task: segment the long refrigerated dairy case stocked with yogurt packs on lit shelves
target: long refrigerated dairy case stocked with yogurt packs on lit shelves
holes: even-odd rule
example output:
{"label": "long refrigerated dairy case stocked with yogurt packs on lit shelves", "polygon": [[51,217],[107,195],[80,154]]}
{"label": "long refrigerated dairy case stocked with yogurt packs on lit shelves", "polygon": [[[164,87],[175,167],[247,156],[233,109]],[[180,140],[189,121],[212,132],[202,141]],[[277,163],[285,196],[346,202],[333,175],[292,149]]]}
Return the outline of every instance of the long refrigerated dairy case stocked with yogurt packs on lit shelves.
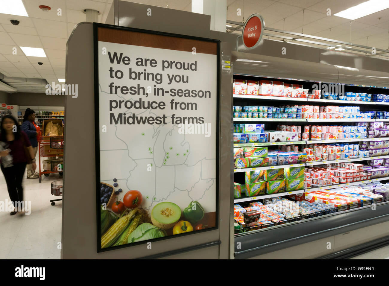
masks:
{"label": "long refrigerated dairy case stocked with yogurt packs on lit shelves", "polygon": [[232,67],[235,259],[388,240],[389,73],[240,52]]}

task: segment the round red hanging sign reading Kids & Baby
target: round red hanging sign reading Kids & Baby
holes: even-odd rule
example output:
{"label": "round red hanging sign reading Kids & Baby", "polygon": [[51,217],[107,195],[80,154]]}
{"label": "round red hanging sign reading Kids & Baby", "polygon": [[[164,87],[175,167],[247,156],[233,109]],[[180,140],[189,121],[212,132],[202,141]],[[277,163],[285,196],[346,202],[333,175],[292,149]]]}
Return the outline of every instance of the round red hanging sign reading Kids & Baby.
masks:
{"label": "round red hanging sign reading Kids & Baby", "polygon": [[248,49],[254,49],[262,39],[265,23],[259,14],[252,14],[243,26],[243,44]]}

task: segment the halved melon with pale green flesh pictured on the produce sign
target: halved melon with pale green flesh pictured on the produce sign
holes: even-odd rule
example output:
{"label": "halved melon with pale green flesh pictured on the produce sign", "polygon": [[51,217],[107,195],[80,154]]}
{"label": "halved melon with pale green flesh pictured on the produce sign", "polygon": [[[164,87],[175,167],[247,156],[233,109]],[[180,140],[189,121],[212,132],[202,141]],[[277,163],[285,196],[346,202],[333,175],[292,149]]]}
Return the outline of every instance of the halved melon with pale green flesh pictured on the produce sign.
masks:
{"label": "halved melon with pale green flesh pictured on the produce sign", "polygon": [[151,222],[158,228],[172,228],[181,217],[181,209],[171,202],[156,204],[151,211]]}

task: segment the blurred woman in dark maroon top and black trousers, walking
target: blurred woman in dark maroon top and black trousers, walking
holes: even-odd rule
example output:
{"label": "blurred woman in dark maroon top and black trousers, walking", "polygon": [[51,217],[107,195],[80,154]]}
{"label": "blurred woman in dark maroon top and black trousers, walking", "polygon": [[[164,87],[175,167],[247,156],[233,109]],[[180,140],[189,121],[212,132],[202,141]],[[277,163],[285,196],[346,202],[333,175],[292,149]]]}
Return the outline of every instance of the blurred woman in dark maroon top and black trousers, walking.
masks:
{"label": "blurred woman in dark maroon top and black trousers, walking", "polygon": [[[22,180],[27,163],[32,159],[34,170],[37,168],[37,165],[35,158],[33,158],[34,152],[30,140],[28,140],[26,133],[20,130],[18,122],[12,115],[3,117],[0,131],[0,141],[8,145],[8,149],[0,152],[0,165],[7,183],[9,197],[15,206],[15,202],[23,201]],[[2,157],[8,154],[12,156],[12,166],[4,167]],[[17,210],[11,212],[11,216],[16,214],[16,212]]]}

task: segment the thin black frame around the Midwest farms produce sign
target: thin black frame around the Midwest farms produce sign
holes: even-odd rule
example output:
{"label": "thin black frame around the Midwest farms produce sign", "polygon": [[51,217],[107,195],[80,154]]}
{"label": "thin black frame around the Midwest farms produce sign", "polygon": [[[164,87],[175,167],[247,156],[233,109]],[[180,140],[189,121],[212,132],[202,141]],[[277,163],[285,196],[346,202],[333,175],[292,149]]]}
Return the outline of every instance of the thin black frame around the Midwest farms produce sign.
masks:
{"label": "thin black frame around the Midwest farms produce sign", "polygon": [[[175,37],[179,39],[191,39],[191,40],[200,40],[204,42],[214,42],[216,43],[216,225],[212,228],[206,228],[203,230],[196,230],[194,232],[187,232],[187,233],[180,233],[178,235],[168,235],[165,237],[160,237],[156,239],[151,240],[144,240],[140,242],[133,242],[130,244],[123,244],[121,246],[114,246],[114,247],[108,247],[108,248],[101,248],[101,226],[100,226],[100,189],[98,188],[100,186],[100,123],[99,123],[99,70],[98,70],[98,28],[110,28],[115,30],[124,30],[124,31],[130,31],[130,32],[139,32],[139,33],[147,33],[151,35],[162,35],[167,37]],[[202,37],[193,37],[189,35],[181,35],[181,34],[175,34],[175,33],[167,33],[167,32],[159,32],[159,31],[152,31],[152,30],[144,30],[144,29],[138,29],[138,28],[130,28],[130,27],[124,27],[124,26],[116,26],[116,25],[108,25],[108,24],[102,24],[102,23],[93,23],[93,61],[94,61],[94,111],[95,111],[95,191],[96,191],[96,243],[97,243],[97,252],[104,252],[104,251],[110,251],[125,247],[131,247],[135,245],[140,244],[147,244],[147,242],[156,242],[160,240],[165,239],[173,239],[175,237],[183,237],[186,235],[193,235],[197,233],[203,233],[208,232],[211,230],[218,230],[219,229],[219,211],[220,211],[220,190],[219,190],[219,164],[220,164],[220,97],[221,97],[221,41],[217,39],[210,39],[210,38],[202,38]]]}

